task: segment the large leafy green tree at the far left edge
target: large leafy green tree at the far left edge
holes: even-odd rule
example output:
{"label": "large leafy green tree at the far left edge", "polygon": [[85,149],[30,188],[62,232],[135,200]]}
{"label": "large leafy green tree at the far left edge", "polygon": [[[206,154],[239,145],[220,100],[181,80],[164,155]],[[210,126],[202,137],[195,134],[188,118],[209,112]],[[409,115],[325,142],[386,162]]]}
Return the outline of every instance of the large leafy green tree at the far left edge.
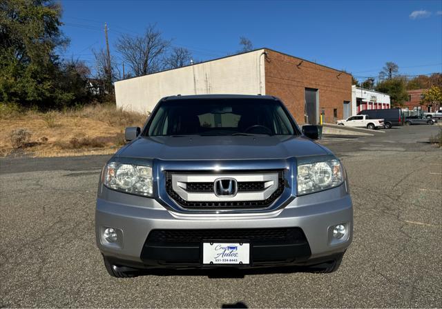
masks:
{"label": "large leafy green tree at the far left edge", "polygon": [[75,100],[63,79],[71,66],[56,53],[68,44],[60,17],[61,6],[54,1],[0,1],[0,101],[52,108]]}

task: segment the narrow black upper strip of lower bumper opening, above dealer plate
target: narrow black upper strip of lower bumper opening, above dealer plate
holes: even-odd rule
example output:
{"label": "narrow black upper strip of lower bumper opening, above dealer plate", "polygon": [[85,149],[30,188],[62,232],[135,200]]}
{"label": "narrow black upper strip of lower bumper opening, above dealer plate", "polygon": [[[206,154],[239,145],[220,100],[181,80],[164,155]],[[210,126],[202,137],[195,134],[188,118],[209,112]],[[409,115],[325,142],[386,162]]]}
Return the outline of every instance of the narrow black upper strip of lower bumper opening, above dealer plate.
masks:
{"label": "narrow black upper strip of lower bumper opening, above dealer plate", "polygon": [[203,230],[152,230],[145,246],[162,243],[200,244],[202,241],[251,241],[262,243],[305,243],[304,232],[300,228],[241,228]]}

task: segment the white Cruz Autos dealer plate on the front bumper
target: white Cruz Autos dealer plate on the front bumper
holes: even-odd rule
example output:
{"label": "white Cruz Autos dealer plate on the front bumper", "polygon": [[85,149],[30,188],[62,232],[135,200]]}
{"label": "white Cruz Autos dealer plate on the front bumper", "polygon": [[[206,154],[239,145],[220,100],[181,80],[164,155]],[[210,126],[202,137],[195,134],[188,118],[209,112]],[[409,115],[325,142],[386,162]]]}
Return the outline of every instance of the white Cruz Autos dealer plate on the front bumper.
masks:
{"label": "white Cruz Autos dealer plate on the front bumper", "polygon": [[250,243],[202,243],[203,264],[249,264]]}

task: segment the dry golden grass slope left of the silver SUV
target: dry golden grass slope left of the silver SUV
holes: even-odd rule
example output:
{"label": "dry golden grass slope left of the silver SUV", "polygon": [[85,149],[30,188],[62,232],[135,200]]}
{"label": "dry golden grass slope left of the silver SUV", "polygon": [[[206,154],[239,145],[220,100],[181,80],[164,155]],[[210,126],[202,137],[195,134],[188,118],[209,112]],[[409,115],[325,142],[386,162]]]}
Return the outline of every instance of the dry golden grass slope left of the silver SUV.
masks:
{"label": "dry golden grass slope left of the silver SUV", "polygon": [[36,157],[110,154],[124,145],[124,128],[143,126],[148,114],[127,112],[112,104],[41,113],[0,104],[0,155],[10,155],[12,132],[32,132],[21,147]]}

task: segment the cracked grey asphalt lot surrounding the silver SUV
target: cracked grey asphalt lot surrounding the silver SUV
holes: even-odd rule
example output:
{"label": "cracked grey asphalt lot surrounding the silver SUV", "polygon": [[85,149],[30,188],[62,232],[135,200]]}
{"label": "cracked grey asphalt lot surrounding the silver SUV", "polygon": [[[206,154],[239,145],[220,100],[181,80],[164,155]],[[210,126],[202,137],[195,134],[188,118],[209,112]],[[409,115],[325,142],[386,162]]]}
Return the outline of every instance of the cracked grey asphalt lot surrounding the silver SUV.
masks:
{"label": "cracked grey asphalt lot surrounding the silver SUV", "polygon": [[354,241],[332,274],[299,269],[109,277],[95,246],[108,156],[0,159],[0,308],[442,307],[442,150],[436,126],[323,139],[343,160]]}

